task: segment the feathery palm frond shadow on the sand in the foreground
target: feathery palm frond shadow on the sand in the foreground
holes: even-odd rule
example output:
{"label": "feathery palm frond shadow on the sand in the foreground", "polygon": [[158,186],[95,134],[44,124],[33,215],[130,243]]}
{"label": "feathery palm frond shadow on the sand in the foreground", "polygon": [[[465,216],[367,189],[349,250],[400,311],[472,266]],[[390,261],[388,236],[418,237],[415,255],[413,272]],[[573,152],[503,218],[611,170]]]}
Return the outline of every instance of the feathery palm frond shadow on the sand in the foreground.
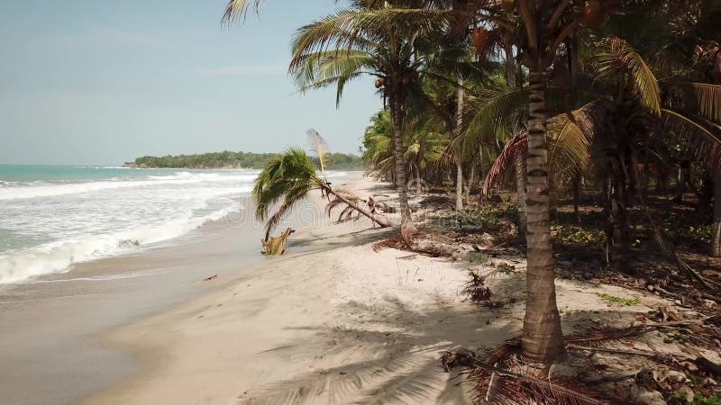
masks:
{"label": "feathery palm frond shadow on the sand in the foreground", "polygon": [[351,326],[296,328],[315,332],[259,356],[312,359],[311,371],[241,396],[244,403],[464,403],[468,388],[447,374],[441,352],[495,346],[518,332],[517,320],[434,296],[433,308],[411,308],[395,297],[378,304],[347,302],[337,311]]}

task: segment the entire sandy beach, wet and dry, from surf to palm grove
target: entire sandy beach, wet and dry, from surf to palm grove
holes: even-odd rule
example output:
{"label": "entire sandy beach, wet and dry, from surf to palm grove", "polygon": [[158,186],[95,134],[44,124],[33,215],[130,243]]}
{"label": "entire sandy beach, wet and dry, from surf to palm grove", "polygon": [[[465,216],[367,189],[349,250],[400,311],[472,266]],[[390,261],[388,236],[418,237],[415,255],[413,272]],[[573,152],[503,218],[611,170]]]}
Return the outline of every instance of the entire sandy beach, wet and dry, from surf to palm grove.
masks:
{"label": "entire sandy beach, wet and dry, from surf to palm grove", "polygon": [[[339,183],[352,184],[361,197],[394,197],[387,184],[360,173]],[[63,313],[78,318],[69,327],[67,319],[38,326],[53,319],[41,308],[20,320],[25,327],[7,332],[13,327],[7,320],[18,320],[9,315],[23,313],[0,316],[0,344],[22,348],[12,352],[17,356],[0,352],[4,368],[11,365],[0,372],[0,382],[10,378],[0,383],[4,399],[11,399],[6,403],[468,403],[472,387],[457,372],[443,371],[441,353],[490,348],[519,335],[522,254],[488,254],[490,266],[507,263],[517,271],[488,277],[505,305],[479,307],[466,302],[462,290],[469,268],[480,262],[392,248],[377,252],[373,244],[397,230],[373,229],[362,217],[338,223],[323,206],[314,193],[288,219],[297,233],[281,257],[260,256],[260,227],[214,223],[202,229],[202,241],[87,264],[88,275],[125,274],[121,267],[134,269],[131,275],[169,269],[160,271],[166,275],[160,280],[131,277],[68,298],[72,304]],[[115,270],[108,270],[109,263]],[[218,276],[202,281],[209,275]],[[660,302],[615,286],[573,280],[556,285],[567,333],[589,320],[627,326]],[[598,293],[640,302],[607,308]],[[38,335],[50,338],[55,328],[59,343],[34,350]],[[50,363],[44,357],[59,353]],[[51,373],[43,374],[48,364]],[[30,401],[29,386],[40,387],[42,401]],[[14,397],[6,396],[8,388]],[[59,394],[63,388],[65,396]]]}

